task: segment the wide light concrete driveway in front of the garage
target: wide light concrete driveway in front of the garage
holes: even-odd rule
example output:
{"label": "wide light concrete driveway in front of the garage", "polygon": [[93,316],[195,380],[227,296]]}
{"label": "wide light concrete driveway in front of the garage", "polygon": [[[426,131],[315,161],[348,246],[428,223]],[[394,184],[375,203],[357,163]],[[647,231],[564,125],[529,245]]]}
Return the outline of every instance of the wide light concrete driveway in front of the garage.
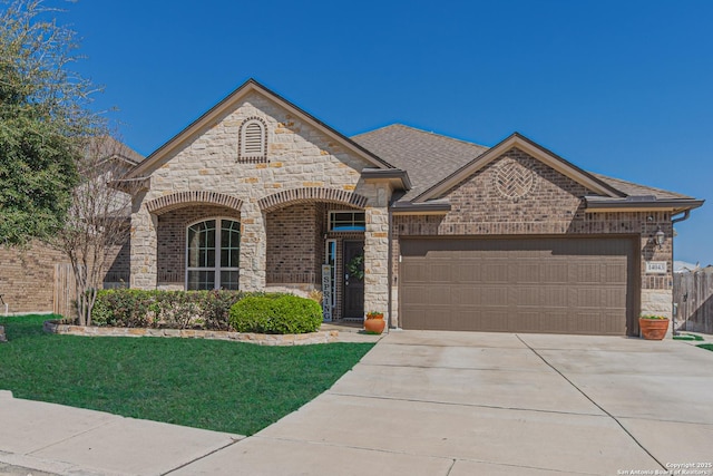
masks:
{"label": "wide light concrete driveway in front of the garage", "polygon": [[713,352],[393,331],[299,411],[170,474],[713,475],[712,463]]}

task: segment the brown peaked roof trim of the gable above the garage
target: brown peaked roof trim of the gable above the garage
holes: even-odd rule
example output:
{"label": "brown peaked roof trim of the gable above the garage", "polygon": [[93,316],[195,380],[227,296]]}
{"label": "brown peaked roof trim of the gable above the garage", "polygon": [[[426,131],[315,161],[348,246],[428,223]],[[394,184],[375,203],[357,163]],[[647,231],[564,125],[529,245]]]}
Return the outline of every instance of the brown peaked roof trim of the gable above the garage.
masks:
{"label": "brown peaked roof trim of the gable above the garage", "polygon": [[441,195],[443,195],[450,188],[466,181],[468,177],[472,176],[476,172],[480,171],[486,165],[490,164],[492,161],[497,159],[499,156],[501,156],[512,147],[519,148],[520,150],[543,162],[545,165],[554,168],[560,174],[572,178],[573,181],[584,185],[588,190],[599,195],[607,197],[626,196],[625,193],[621,192],[617,188],[614,188],[612,185],[602,181],[597,176],[583,171],[582,168],[565,161],[564,158],[551,153],[545,147],[522,136],[521,134],[514,133],[505,140],[500,142],[498,145],[484,152],[478,157],[468,162],[443,179],[437,182],[428,190],[421,192],[418,196],[413,197],[412,201],[414,203],[423,203],[428,200],[440,198]]}

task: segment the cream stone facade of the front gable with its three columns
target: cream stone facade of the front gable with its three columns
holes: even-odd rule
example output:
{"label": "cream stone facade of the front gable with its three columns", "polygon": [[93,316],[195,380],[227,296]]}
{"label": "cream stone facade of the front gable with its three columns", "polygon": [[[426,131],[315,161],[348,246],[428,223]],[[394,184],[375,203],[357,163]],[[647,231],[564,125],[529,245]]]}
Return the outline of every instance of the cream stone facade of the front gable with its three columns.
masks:
{"label": "cream stone facade of the front gable with its three columns", "polygon": [[[238,163],[238,134],[244,120],[258,117],[267,133],[267,162]],[[373,167],[333,142],[322,130],[292,115],[270,98],[251,93],[232,110],[189,138],[185,145],[157,164],[150,174],[150,190],[135,197],[131,215],[131,288],[154,289],[158,278],[158,233],[162,210],[147,208],[163,196],[213,192],[242,203],[241,282],[244,291],[263,290],[267,276],[266,211],[268,198],[285,191],[297,196],[300,190],[326,190],[331,202],[343,205],[364,204],[365,233],[365,309],[387,309],[387,242],[382,222],[388,216],[391,190],[388,183],[367,184],[361,171]],[[333,192],[329,192],[333,191]],[[365,202],[348,200],[354,193]],[[290,195],[290,194],[287,194]],[[282,196],[282,195],[280,195]],[[314,202],[324,200],[314,198]],[[387,225],[388,226],[388,225]],[[160,253],[158,253],[160,256]],[[163,260],[163,258],[160,258]]]}

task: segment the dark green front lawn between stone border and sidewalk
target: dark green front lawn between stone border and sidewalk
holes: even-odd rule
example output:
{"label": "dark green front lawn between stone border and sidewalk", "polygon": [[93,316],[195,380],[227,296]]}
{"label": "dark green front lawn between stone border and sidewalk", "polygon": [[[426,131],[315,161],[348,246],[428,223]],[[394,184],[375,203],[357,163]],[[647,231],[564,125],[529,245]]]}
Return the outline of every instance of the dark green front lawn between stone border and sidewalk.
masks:
{"label": "dark green front lawn between stone border and sidewalk", "polygon": [[0,318],[0,389],[14,397],[252,435],[330,388],[371,343],[260,347],[47,334],[52,317]]}

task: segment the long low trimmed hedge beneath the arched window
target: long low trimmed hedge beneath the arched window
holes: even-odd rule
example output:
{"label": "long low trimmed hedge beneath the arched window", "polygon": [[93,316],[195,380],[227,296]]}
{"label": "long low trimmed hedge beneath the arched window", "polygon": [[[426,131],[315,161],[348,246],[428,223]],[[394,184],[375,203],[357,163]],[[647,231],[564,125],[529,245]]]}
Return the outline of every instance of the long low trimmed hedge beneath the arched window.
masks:
{"label": "long low trimmed hedge beneath the arched window", "polygon": [[91,312],[94,326],[228,330],[237,291],[102,290]]}

